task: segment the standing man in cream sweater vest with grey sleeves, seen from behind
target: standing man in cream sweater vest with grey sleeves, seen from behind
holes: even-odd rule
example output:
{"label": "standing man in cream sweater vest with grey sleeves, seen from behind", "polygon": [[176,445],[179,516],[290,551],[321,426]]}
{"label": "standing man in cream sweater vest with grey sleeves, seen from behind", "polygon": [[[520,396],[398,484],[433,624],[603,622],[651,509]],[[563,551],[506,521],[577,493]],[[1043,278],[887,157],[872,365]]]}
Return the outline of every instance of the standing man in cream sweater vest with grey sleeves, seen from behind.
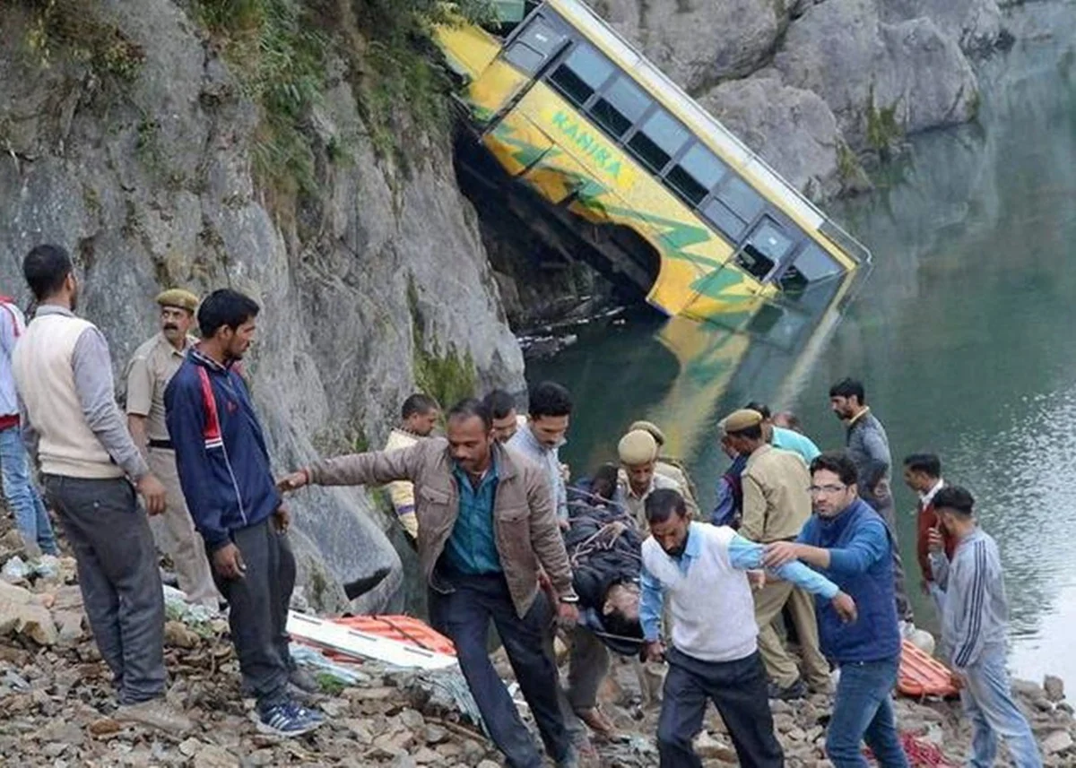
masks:
{"label": "standing man in cream sweater vest with grey sleeves, seen from behind", "polygon": [[39,245],[23,261],[38,313],[13,355],[24,440],[44,477],[79,567],[86,617],[112,670],[116,720],[175,733],[190,721],[165,702],[165,598],[150,514],[166,490],[146,466],[113,396],[104,336],[74,315],[68,253]]}

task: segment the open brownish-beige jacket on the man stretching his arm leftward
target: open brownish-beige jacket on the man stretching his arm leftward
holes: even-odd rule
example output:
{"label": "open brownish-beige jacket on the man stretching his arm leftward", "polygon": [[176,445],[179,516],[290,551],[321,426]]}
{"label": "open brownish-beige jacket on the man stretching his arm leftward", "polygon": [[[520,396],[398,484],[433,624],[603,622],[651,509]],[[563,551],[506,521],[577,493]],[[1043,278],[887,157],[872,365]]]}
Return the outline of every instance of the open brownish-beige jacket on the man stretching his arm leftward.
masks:
{"label": "open brownish-beige jacket on the man stretching his arm leftward", "polygon": [[[498,475],[494,535],[516,613],[524,616],[530,610],[538,594],[539,570],[549,574],[562,599],[574,601],[571,568],[546,472],[499,444],[493,452]],[[459,488],[452,468],[448,440],[429,438],[399,451],[320,461],[308,468],[307,474],[317,485],[374,485],[396,480],[414,483],[423,578],[431,588],[449,592],[451,585],[439,579],[436,567],[459,514]]]}

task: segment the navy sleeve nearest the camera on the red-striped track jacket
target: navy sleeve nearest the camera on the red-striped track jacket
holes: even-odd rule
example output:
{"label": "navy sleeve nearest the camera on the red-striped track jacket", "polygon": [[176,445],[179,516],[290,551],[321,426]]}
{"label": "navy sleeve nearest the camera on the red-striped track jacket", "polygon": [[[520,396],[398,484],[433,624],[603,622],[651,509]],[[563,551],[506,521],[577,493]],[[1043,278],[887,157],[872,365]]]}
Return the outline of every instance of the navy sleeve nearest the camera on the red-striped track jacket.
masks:
{"label": "navy sleeve nearest the camera on the red-striped track jacket", "polygon": [[165,421],[175,450],[175,469],[190,517],[210,553],[230,543],[206,451],[206,406],[200,388],[173,379],[165,390]]}

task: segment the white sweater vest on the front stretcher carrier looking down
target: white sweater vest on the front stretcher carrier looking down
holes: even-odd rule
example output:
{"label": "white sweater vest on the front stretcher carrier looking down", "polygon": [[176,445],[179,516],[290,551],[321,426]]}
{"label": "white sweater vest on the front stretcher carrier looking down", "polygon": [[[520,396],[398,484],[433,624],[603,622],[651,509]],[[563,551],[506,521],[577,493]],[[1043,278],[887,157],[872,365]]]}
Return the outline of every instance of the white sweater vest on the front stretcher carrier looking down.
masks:
{"label": "white sweater vest on the front stretcher carrier looking down", "polygon": [[642,564],[662,583],[672,615],[672,645],[704,662],[736,662],[758,650],[751,585],[728,559],[733,536],[732,528],[692,523],[700,547],[686,575],[653,537],[642,542]]}

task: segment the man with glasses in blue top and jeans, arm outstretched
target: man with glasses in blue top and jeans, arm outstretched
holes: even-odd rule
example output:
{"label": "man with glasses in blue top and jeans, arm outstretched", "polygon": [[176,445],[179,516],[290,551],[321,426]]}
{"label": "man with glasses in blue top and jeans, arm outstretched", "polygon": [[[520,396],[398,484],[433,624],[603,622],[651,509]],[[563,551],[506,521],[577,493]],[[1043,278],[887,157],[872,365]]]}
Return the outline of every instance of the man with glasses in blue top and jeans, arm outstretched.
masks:
{"label": "man with glasses in blue top and jeans, arm outstretched", "polygon": [[829,601],[816,602],[822,652],[840,668],[825,751],[835,768],[867,768],[860,750],[866,741],[881,768],[908,768],[892,703],[901,667],[892,536],[859,497],[855,464],[846,453],[824,453],[810,470],[815,514],[796,541],[769,544],[764,564],[803,560],[859,607],[859,618],[844,624]]}

